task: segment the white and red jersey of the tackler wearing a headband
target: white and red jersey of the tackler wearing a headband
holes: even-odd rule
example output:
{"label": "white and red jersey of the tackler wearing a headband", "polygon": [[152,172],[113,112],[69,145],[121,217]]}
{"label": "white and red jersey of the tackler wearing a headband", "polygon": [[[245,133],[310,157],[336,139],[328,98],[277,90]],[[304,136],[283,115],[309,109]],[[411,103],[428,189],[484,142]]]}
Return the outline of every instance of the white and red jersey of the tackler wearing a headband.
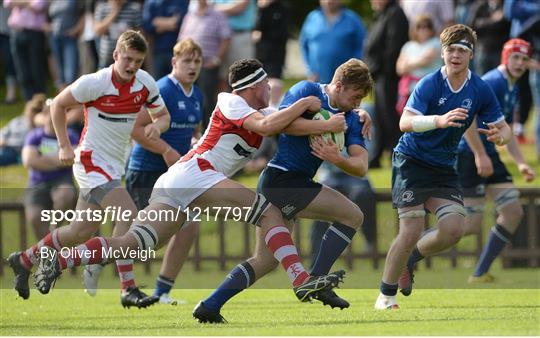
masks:
{"label": "white and red jersey of the tackler wearing a headband", "polygon": [[204,135],[180,162],[200,158],[202,170],[213,169],[231,177],[261,146],[263,137],[242,127],[246,118],[256,112],[269,114],[271,111],[252,108],[241,96],[220,93]]}

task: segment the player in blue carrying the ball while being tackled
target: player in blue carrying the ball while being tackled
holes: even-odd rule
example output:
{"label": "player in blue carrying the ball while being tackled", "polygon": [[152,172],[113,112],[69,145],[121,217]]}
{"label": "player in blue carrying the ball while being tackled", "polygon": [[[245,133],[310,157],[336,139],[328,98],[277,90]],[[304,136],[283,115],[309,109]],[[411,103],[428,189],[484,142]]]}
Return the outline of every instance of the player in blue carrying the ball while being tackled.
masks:
{"label": "player in blue carrying the ball while being tackled", "polygon": [[[365,149],[362,119],[367,113],[361,111],[359,118],[355,108],[371,91],[373,81],[366,64],[350,59],[335,71],[330,84],[301,81],[286,94],[280,109],[298,100],[315,96],[321,107],[333,113],[331,120],[346,122],[343,156],[337,145],[322,138],[309,141],[309,135],[323,133],[322,122],[311,120],[306,112],[293,121],[279,136],[275,156],[261,173],[258,190],[278,207],[288,222],[288,227],[274,228],[275,233],[289,234],[294,217],[319,219],[333,222],[325,233],[319,255],[313,264],[313,276],[326,275],[333,263],[351,242],[364,215],[360,208],[338,191],[313,180],[323,161],[328,161],[344,172],[364,176],[368,169],[368,153]],[[266,245],[264,245],[266,243]],[[253,257],[237,265],[222,284],[204,301],[200,302],[193,316],[201,322],[222,322],[220,310],[234,295],[251,286],[257,279],[274,270],[278,261],[267,249],[272,247],[269,236],[257,229],[256,252]],[[286,255],[286,248],[281,255]],[[313,297],[332,307],[346,308],[349,303],[332,290],[322,290]]]}

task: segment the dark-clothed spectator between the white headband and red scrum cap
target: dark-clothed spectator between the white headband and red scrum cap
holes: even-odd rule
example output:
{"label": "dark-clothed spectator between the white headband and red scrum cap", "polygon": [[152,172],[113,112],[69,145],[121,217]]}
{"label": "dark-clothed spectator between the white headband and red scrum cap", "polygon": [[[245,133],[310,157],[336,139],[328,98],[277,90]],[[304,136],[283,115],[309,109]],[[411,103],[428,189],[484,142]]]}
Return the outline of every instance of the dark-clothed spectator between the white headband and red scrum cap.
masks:
{"label": "dark-clothed spectator between the white headband and red scrum cap", "polygon": [[476,31],[474,70],[484,75],[501,61],[502,46],[510,34],[510,21],[504,17],[502,0],[483,0],[473,3],[466,25]]}

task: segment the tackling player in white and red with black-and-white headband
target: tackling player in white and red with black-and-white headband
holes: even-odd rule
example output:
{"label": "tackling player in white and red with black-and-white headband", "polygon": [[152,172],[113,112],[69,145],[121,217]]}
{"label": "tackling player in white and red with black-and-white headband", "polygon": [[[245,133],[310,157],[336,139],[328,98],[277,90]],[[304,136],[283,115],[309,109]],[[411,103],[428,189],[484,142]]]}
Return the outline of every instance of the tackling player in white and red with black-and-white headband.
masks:
{"label": "tackling player in white and red with black-and-white headband", "polygon": [[[279,133],[306,111],[318,111],[321,101],[315,96],[304,97],[283,110],[270,113],[264,109],[268,107],[270,93],[268,78],[262,64],[254,59],[236,61],[229,69],[229,83],[233,92],[218,95],[210,126],[203,137],[157,180],[150,205],[144,209],[145,213],[164,215],[168,212],[176,217],[157,221],[140,217],[127,234],[93,238],[68,257],[50,249],[42,255],[35,273],[35,284],[41,293],[48,293],[61,270],[67,267],[106,261],[103,249],[147,250],[167,243],[187,220],[188,210],[207,207],[210,212],[224,207],[241,210],[243,219],[260,226],[259,231],[268,239],[267,247],[287,271],[299,300],[307,301],[321,290],[339,284],[344,274],[341,271],[311,276],[300,262],[290,233],[279,231],[284,224],[279,209],[264,196],[230,179],[260,147],[263,136]],[[81,260],[78,256],[92,258]]]}

